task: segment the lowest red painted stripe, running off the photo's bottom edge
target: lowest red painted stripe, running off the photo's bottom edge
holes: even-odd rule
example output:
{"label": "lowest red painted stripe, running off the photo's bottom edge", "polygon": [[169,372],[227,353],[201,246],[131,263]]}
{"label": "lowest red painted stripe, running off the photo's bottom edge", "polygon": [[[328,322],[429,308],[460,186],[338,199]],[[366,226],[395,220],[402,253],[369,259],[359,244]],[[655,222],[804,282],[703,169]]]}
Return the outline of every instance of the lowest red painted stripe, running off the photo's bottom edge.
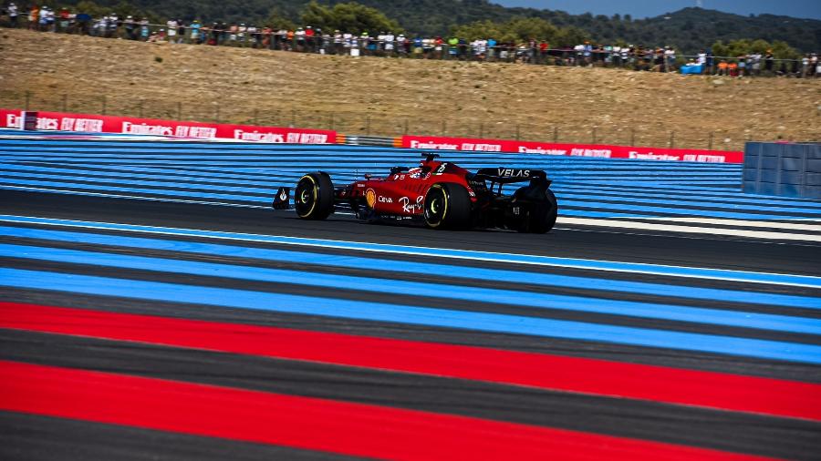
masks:
{"label": "lowest red painted stripe, running off the photo's bottom edge", "polygon": [[[756,459],[463,416],[0,361],[0,409],[392,459]],[[761,458],[758,458],[761,459]]]}

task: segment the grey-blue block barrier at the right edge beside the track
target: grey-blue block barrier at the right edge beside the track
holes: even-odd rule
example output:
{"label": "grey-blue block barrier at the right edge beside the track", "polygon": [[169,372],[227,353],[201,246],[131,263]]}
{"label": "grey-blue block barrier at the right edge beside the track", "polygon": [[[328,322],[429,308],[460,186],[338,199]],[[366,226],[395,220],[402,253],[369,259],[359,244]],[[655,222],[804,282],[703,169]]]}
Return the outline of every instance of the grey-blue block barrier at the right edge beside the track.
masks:
{"label": "grey-blue block barrier at the right edge beside the track", "polygon": [[821,144],[748,142],[743,191],[821,199]]}

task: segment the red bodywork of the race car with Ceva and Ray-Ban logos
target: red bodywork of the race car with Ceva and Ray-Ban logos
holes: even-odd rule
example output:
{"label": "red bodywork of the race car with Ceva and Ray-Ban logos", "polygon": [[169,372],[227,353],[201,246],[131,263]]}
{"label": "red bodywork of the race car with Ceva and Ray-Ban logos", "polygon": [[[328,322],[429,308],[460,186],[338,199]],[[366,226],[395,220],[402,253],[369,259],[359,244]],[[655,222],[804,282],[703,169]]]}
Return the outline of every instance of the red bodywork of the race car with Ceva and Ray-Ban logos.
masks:
{"label": "red bodywork of the race car with Ceva and Ray-Ban logos", "polygon": [[342,200],[364,199],[371,210],[382,215],[421,215],[425,194],[437,182],[455,182],[464,186],[472,201],[476,194],[465,179],[471,174],[449,162],[422,160],[417,168],[391,173],[387,178],[365,179],[352,183],[341,190]]}

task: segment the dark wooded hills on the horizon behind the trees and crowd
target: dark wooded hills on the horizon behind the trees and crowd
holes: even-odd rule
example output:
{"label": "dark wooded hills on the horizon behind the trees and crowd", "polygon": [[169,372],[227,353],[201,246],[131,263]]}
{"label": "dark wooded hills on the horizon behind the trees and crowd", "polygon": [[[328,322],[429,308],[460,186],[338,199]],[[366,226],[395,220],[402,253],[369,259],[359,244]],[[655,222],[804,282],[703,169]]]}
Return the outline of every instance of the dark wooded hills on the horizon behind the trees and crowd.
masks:
{"label": "dark wooded hills on the horizon behind the trees and crowd", "polygon": [[[350,0],[323,0],[334,5]],[[160,17],[180,17],[191,21],[236,21],[261,24],[275,9],[299,23],[299,16],[309,0],[129,0],[142,11]],[[59,5],[76,5],[67,0]],[[99,5],[123,5],[122,0],[97,0]],[[782,40],[804,52],[821,51],[821,21],[782,15],[733,15],[702,8],[684,8],[667,15],[634,20],[626,16],[569,15],[564,11],[506,8],[487,0],[359,0],[362,5],[379,9],[399,21],[411,34],[446,35],[454,26],[474,21],[506,21],[514,16],[541,17],[555,26],[576,26],[594,41],[646,46],[676,46],[684,53],[696,53],[717,40],[762,38],[768,42]]]}

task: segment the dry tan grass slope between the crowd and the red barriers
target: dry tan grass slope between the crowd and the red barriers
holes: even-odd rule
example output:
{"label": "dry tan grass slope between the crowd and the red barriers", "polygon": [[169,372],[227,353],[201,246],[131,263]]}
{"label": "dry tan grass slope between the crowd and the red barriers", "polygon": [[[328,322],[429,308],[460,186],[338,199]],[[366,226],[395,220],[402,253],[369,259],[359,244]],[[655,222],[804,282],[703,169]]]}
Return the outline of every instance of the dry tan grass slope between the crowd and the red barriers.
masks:
{"label": "dry tan grass slope between the crowd and the red barriers", "polygon": [[[683,77],[0,31],[0,107],[742,149],[821,140],[821,79]],[[105,99],[103,100],[103,96]],[[672,138],[672,139],[670,139]]]}

